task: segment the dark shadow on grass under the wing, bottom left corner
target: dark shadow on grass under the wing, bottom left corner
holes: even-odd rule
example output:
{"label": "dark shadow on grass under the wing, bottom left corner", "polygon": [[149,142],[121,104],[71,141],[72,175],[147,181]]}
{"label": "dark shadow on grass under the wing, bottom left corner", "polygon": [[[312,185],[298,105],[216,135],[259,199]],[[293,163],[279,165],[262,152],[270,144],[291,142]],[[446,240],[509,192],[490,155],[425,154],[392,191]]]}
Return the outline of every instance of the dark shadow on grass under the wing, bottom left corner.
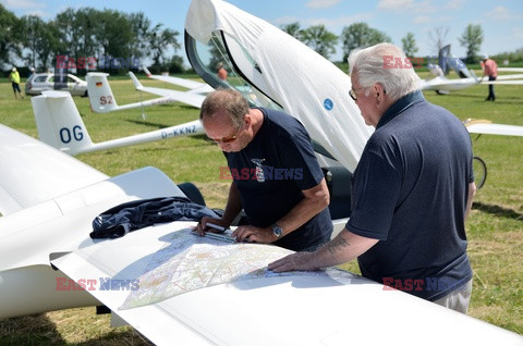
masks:
{"label": "dark shadow on grass under the wing, bottom left corner", "polygon": [[[65,322],[66,323],[66,322]],[[71,343],[62,337],[57,325],[45,313],[0,319],[0,345],[154,345],[133,329],[110,329],[102,335]]]}

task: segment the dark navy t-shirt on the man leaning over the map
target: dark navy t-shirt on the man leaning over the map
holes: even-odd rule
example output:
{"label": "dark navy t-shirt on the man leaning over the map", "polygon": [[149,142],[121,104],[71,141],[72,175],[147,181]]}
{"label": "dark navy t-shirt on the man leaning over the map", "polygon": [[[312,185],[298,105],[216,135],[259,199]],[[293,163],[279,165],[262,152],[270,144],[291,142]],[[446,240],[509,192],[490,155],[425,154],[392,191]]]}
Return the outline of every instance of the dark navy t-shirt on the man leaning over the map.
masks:
{"label": "dark navy t-shirt on the man leaning over the map", "polygon": [[[311,137],[296,119],[259,110],[264,122],[253,140],[239,152],[223,153],[250,223],[268,227],[304,198],[302,190],[318,185],[324,173]],[[329,240],[331,233],[330,213],[325,208],[273,244],[297,251]]]}

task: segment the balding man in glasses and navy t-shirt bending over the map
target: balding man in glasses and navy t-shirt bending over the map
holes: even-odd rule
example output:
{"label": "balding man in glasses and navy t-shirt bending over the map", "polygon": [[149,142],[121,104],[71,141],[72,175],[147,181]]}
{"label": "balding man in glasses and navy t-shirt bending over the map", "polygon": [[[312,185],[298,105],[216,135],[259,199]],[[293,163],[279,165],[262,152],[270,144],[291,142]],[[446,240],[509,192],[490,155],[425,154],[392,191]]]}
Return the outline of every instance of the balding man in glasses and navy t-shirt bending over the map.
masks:
{"label": "balding man in glasses and navy t-shirt bending over the map", "polygon": [[216,90],[202,104],[207,136],[227,158],[232,183],[221,219],[204,218],[200,235],[228,228],[242,209],[248,224],[232,234],[236,242],[275,244],[312,251],[332,234],[329,190],[311,137],[294,118],[248,107],[235,90]]}

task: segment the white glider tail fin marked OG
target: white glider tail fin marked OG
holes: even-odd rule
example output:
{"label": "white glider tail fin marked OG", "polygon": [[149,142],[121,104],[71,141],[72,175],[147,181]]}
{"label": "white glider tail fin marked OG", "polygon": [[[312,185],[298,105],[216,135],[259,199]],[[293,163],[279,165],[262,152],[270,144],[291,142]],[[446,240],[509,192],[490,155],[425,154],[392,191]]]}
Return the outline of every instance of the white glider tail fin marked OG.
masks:
{"label": "white glider tail fin marked OG", "polygon": [[71,94],[48,90],[31,101],[41,141],[69,155],[93,146]]}

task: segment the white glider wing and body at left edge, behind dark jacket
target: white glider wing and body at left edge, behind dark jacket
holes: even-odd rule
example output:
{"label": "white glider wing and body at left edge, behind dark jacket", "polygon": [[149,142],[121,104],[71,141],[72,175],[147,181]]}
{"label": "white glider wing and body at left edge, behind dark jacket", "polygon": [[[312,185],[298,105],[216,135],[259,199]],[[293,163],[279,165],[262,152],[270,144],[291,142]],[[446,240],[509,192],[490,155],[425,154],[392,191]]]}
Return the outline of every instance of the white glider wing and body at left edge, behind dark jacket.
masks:
{"label": "white glider wing and body at left edge, behind dark jacket", "polygon": [[134,199],[184,196],[153,168],[108,177],[76,159],[0,125],[0,319],[99,304],[57,289],[49,256],[81,247],[93,220]]}

